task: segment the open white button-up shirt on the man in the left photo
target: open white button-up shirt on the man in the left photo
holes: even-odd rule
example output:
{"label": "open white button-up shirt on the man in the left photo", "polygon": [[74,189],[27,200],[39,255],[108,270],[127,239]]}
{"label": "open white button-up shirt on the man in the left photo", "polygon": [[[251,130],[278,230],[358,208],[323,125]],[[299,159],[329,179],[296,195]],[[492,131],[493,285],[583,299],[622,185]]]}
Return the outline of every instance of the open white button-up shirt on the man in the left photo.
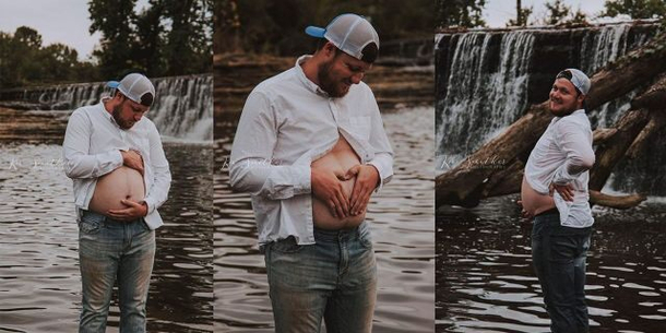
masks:
{"label": "open white button-up shirt on the man in the left photo", "polygon": [[62,155],[64,173],[73,180],[76,212],[88,209],[97,178],[122,166],[120,151],[135,150],[143,158],[148,209],[144,219],[151,229],[158,228],[164,223],[157,209],[167,199],[171,174],[157,128],[142,117],[132,128],[122,130],[103,102],[76,109],[67,124]]}

